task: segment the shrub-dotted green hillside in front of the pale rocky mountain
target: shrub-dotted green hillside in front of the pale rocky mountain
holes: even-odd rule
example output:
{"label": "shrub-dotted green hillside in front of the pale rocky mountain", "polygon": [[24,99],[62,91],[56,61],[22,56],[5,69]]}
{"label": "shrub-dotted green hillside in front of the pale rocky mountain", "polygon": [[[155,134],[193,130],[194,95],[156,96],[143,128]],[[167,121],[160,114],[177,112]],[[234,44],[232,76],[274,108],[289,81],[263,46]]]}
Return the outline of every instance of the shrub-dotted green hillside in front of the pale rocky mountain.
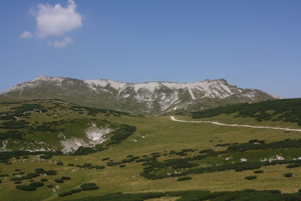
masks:
{"label": "shrub-dotted green hillside in front of the pale rocky mountain", "polygon": [[[0,100],[0,197],[6,200],[301,197],[297,192],[301,177],[300,131],[176,122],[169,116],[135,116],[60,99]],[[300,99],[283,99],[281,104],[277,101],[263,102],[274,106],[266,113],[280,111],[281,106],[293,101],[297,109]],[[258,104],[249,104],[248,110],[256,111]],[[234,109],[230,114],[201,119],[192,119],[183,110],[173,112],[178,113],[177,120],[185,121],[210,119],[259,127],[274,127],[275,123],[254,121],[257,117],[235,117],[239,111]],[[283,114],[285,111],[278,115]],[[277,124],[280,128],[301,128],[298,121]],[[68,143],[62,142],[71,142],[72,149],[65,149]],[[85,183],[97,187],[81,187]]]}

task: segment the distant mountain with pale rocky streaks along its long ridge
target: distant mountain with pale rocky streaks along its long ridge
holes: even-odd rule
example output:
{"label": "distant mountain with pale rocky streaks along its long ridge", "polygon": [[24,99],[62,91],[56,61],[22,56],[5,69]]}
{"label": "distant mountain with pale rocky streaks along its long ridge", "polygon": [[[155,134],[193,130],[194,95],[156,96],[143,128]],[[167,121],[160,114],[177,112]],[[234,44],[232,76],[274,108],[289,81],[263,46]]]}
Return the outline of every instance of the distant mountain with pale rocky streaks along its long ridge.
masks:
{"label": "distant mountain with pale rocky streaks along its long ridge", "polygon": [[[80,80],[40,76],[0,93],[25,99],[59,98],[67,102],[136,114],[160,114],[172,109],[199,111],[276,97],[258,89],[243,89],[225,79],[176,83],[125,83],[105,79]],[[211,100],[215,100],[209,103]]]}

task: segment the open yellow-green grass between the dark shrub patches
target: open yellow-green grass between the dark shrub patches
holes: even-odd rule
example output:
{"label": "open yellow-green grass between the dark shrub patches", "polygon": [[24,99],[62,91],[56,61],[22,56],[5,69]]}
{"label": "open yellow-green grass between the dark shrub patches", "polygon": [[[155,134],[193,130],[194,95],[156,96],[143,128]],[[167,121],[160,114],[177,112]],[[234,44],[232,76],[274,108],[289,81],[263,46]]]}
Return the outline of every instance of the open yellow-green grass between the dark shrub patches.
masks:
{"label": "open yellow-green grass between the dark shrub patches", "polygon": [[[43,105],[50,103],[43,103]],[[18,105],[18,104],[16,104]],[[68,104],[65,104],[68,105]],[[9,111],[8,107],[1,106],[1,111]],[[55,113],[62,113],[57,108]],[[68,111],[66,109],[66,111]],[[72,112],[72,111],[71,111]],[[34,124],[35,121],[42,122],[54,121],[52,116],[49,117],[48,113],[33,114],[30,116],[31,119],[26,119],[30,122],[30,125]],[[300,132],[291,131],[289,133],[283,133],[281,130],[272,129],[260,129],[260,128],[244,128],[244,127],[227,127],[218,126],[208,123],[185,123],[175,122],[170,117],[165,116],[150,116],[146,118],[140,117],[128,117],[121,115],[121,117],[110,117],[104,116],[105,114],[98,113],[95,117],[87,115],[79,115],[74,111],[69,113],[68,116],[58,117],[57,121],[65,119],[66,121],[74,120],[76,123],[66,123],[64,125],[57,126],[57,128],[65,128],[66,132],[64,135],[66,138],[71,136],[85,137],[84,130],[85,125],[89,122],[102,122],[99,120],[85,119],[80,121],[83,117],[106,119],[111,122],[115,128],[121,124],[127,124],[135,126],[136,132],[134,132],[127,139],[122,141],[120,144],[110,145],[109,149],[101,152],[85,155],[85,156],[53,156],[51,159],[39,159],[38,156],[29,156],[29,158],[21,159],[10,159],[11,165],[0,163],[1,174],[9,174],[7,178],[0,178],[2,183],[0,184],[0,199],[7,200],[24,200],[26,197],[29,200],[65,200],[65,199],[76,199],[84,196],[92,195],[104,195],[111,192],[124,192],[124,193],[138,193],[138,192],[165,192],[175,190],[210,190],[210,191],[222,191],[222,190],[242,190],[246,188],[253,189],[279,189],[282,192],[297,192],[300,188],[298,181],[301,178],[301,168],[286,168],[287,164],[283,165],[271,165],[260,168],[263,173],[256,174],[257,178],[252,180],[244,179],[249,175],[254,175],[254,170],[244,170],[241,172],[235,172],[235,170],[226,170],[223,172],[213,172],[204,174],[192,174],[191,180],[179,182],[177,177],[148,180],[140,173],[143,171],[142,162],[136,163],[135,161],[124,164],[125,167],[120,168],[119,165],[107,166],[109,160],[102,161],[103,158],[113,159],[113,162],[122,161],[128,159],[128,155],[139,156],[143,158],[143,155],[152,157],[152,153],[160,152],[161,157],[158,157],[159,162],[163,162],[166,159],[172,158],[186,158],[200,155],[198,151],[204,149],[213,149],[215,151],[226,150],[227,147],[215,148],[216,144],[219,144],[219,140],[223,140],[222,143],[247,143],[251,139],[265,140],[265,143],[273,141],[282,141],[284,139],[299,139]],[[38,118],[35,118],[38,116]],[[247,124],[252,123],[254,125],[261,125],[263,122],[257,122],[248,120],[248,118],[234,118],[235,114],[220,115],[210,118],[211,121],[224,121],[225,123],[235,124]],[[189,120],[189,116],[176,116],[177,119]],[[208,118],[209,119],[209,118]],[[253,118],[254,119],[254,118]],[[205,121],[205,119],[200,119]],[[194,120],[199,121],[199,120]],[[272,126],[275,122],[269,122],[269,126]],[[281,123],[282,127],[288,127],[288,122],[277,122]],[[37,125],[39,125],[37,124]],[[294,126],[296,126],[294,124]],[[22,129],[27,131],[26,129]],[[0,132],[2,132],[1,130]],[[33,141],[47,141],[49,144],[53,144],[57,150],[61,149],[59,140],[57,139],[59,133],[47,133],[37,132],[34,134],[27,134],[26,139]],[[213,140],[213,142],[209,142]],[[9,143],[14,141],[21,143],[22,140],[7,140]],[[0,146],[4,140],[0,141]],[[27,141],[26,141],[27,142]],[[8,143],[8,144],[9,144]],[[103,143],[106,144],[107,142]],[[24,142],[24,145],[26,143]],[[13,148],[14,145],[10,146]],[[16,146],[17,147],[17,146]],[[0,147],[1,149],[2,147]],[[183,149],[197,149],[196,152],[186,152],[187,156],[179,155],[163,155],[169,153],[171,150],[180,152]],[[167,151],[167,152],[165,152]],[[204,153],[203,153],[204,154]],[[206,154],[206,153],[205,153]],[[268,149],[268,150],[252,150],[245,152],[235,152],[229,154],[222,154],[221,156],[208,157],[203,160],[194,161],[199,163],[198,167],[210,166],[210,165],[221,165],[231,164],[233,162],[239,163],[242,158],[246,158],[247,161],[259,161],[263,158],[270,158],[272,156],[281,156],[285,159],[293,159],[301,157],[300,148],[284,148],[284,149]],[[229,158],[229,160],[226,160]],[[56,165],[58,161],[62,161],[64,165]],[[84,163],[91,163],[91,166],[105,166],[103,169],[88,169],[76,167],[76,165],[83,165]],[[68,166],[67,164],[74,164],[74,166]],[[195,168],[198,168],[195,167]],[[45,185],[37,187],[35,191],[23,191],[15,188],[17,184],[10,179],[13,178],[13,173],[16,173],[15,169],[21,169],[26,175],[30,172],[35,172],[34,169],[43,168],[44,170],[57,170],[57,175],[53,176],[38,176],[34,177],[34,182],[38,182],[41,178],[47,178]],[[76,170],[76,171],[74,171]],[[171,171],[172,169],[160,170],[160,171]],[[181,169],[177,170],[181,171]],[[284,173],[292,172],[292,177],[284,177]],[[56,183],[55,179],[60,179],[62,176],[70,177],[70,180],[64,180],[64,183]],[[91,191],[81,191],[73,193],[65,197],[59,197],[57,194],[63,191],[68,191],[74,188],[80,188],[83,183],[94,182],[99,189]],[[185,184],[183,184],[185,183]],[[22,184],[29,185],[29,179],[22,180]],[[47,185],[53,185],[53,187],[47,187]],[[59,188],[55,188],[59,185]],[[54,192],[53,189],[56,191]],[[149,199],[149,200],[163,200],[162,198]],[[165,199],[164,199],[165,200]],[[167,199],[168,200],[168,199]],[[175,200],[170,198],[170,200]]]}

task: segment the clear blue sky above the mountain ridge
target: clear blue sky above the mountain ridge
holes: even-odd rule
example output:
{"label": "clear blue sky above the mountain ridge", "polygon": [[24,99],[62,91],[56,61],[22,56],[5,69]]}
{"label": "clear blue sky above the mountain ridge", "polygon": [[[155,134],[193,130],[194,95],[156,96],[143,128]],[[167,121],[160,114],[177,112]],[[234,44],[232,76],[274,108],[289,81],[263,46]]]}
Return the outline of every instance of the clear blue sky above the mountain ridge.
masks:
{"label": "clear blue sky above the mountain ridge", "polygon": [[40,75],[224,78],[301,97],[300,10],[301,1],[1,0],[0,91]]}

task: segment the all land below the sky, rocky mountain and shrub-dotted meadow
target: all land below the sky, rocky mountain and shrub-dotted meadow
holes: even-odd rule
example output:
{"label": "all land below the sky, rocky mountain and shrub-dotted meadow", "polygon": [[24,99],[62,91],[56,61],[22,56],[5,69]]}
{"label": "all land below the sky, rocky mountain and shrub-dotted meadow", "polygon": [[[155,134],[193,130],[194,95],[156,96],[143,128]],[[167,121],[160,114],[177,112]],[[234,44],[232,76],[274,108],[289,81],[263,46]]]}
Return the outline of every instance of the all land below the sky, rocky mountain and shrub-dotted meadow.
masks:
{"label": "all land below the sky, rocky mountain and shrub-dotted meadow", "polygon": [[7,200],[301,200],[301,98],[43,76],[0,99]]}

